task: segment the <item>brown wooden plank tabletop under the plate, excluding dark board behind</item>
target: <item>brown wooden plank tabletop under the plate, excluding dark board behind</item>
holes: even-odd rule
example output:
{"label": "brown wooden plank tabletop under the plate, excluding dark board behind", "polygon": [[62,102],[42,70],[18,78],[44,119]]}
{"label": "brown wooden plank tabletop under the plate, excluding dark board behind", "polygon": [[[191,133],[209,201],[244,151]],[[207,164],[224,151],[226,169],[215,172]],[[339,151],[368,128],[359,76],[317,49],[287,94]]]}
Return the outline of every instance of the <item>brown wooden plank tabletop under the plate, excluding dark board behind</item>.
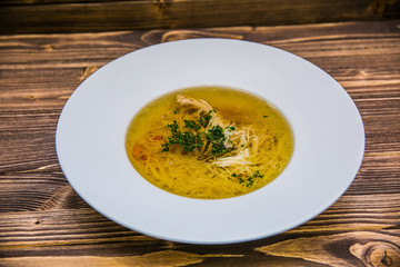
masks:
{"label": "brown wooden plank tabletop under the plate, excluding dark board behind", "polygon": [[[77,86],[124,53],[198,37],[284,49],[350,93],[364,159],[323,214],[261,240],[186,245],[110,221],[68,184],[54,132]],[[400,266],[400,21],[1,36],[0,151],[0,266]]]}

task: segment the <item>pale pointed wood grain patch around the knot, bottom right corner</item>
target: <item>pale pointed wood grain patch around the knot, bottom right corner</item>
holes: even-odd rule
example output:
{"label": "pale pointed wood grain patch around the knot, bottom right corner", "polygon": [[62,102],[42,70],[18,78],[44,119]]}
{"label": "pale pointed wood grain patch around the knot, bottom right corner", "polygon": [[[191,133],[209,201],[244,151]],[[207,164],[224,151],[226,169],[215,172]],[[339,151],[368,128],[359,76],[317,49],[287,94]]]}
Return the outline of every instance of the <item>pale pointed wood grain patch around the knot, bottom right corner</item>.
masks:
{"label": "pale pointed wood grain patch around the knot, bottom right corner", "polygon": [[[303,258],[336,267],[358,266],[360,259],[366,266],[384,266],[389,263],[400,264],[400,249],[396,245],[400,243],[399,234],[400,231],[384,234],[353,231],[331,235],[329,238],[319,236],[291,239],[260,247],[257,250],[268,255]],[[338,257],[338,246],[348,247],[351,254]],[[288,249],[289,247],[290,249]],[[331,254],[324,254],[327,249]],[[288,250],[289,253],[287,253]],[[321,257],[321,255],[323,256]]]}

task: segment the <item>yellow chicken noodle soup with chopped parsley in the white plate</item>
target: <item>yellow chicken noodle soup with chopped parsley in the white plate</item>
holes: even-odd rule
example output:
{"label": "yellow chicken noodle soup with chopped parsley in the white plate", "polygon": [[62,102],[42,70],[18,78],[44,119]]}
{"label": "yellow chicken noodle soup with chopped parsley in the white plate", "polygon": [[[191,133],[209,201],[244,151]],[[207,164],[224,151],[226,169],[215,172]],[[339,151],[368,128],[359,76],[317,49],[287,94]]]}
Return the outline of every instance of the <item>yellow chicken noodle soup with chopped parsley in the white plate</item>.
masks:
{"label": "yellow chicken noodle soup with chopped parsley in the white plate", "polygon": [[290,161],[293,135],[264,99],[221,87],[187,88],[141,109],[127,132],[136,170],[184,197],[221,199],[254,191]]}

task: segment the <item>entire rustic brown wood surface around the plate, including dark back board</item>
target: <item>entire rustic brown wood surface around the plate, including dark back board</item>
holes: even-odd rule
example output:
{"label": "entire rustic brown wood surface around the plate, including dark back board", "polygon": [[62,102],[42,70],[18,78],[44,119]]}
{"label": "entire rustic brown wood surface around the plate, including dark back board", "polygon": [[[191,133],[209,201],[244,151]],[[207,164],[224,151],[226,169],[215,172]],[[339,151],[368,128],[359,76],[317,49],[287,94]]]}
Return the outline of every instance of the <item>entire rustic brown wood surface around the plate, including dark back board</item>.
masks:
{"label": "entire rustic brown wood surface around the plate, including dark back board", "polygon": [[[400,266],[398,3],[1,1],[0,266]],[[284,49],[349,92],[364,122],[366,155],[332,207],[270,238],[196,246],[131,231],[73,191],[54,132],[78,85],[124,53],[198,37]]]}

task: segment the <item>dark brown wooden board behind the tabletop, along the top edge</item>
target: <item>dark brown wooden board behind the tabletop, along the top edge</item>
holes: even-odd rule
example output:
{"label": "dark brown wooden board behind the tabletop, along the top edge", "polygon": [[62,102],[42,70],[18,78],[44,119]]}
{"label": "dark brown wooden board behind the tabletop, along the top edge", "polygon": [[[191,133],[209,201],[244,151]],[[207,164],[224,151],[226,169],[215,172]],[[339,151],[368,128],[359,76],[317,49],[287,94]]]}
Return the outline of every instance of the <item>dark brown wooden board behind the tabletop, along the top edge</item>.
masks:
{"label": "dark brown wooden board behind the tabletop, along the top edge", "polygon": [[399,16],[398,0],[166,0],[3,6],[0,33],[271,26]]}

